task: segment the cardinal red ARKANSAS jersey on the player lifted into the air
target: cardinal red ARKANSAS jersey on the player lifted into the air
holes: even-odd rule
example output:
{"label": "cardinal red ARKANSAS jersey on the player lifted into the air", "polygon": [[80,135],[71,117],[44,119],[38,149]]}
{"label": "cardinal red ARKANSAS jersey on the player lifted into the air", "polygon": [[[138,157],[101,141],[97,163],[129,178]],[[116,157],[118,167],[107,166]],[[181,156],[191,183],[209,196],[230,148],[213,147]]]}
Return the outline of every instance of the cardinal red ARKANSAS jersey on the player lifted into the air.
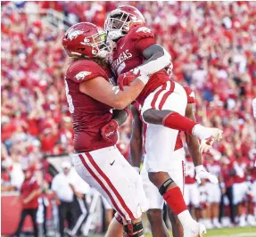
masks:
{"label": "cardinal red ARKANSAS jersey on the player lifted into the air", "polygon": [[[116,75],[135,69],[145,61],[144,50],[154,44],[156,44],[156,41],[151,29],[145,26],[137,26],[131,29],[127,36],[121,37],[117,42],[117,47],[110,57],[111,69]],[[143,105],[148,94],[151,94],[157,87],[162,86],[169,80],[165,69],[154,73],[136,101]],[[174,82],[171,82],[170,91],[174,89]]]}

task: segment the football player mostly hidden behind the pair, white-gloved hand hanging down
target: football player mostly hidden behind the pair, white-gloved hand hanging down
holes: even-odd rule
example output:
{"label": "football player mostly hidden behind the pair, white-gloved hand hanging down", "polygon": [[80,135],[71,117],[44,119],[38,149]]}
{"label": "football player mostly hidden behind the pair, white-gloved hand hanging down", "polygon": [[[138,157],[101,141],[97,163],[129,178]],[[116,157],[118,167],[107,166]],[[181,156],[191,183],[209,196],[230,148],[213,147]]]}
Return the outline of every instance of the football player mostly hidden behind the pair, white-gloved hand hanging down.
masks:
{"label": "football player mostly hidden behind the pair, white-gloved hand hanging down", "polygon": [[[194,92],[188,87],[184,86],[187,94],[187,106],[186,106],[186,118],[195,120],[194,117]],[[138,103],[135,103],[136,110],[139,110]],[[139,127],[142,127],[142,119],[141,115],[136,115],[136,110],[133,109],[133,133],[131,137],[131,158],[133,161],[133,165],[138,167],[140,163],[141,157],[141,149],[140,144],[142,143],[141,135],[139,134]],[[146,129],[146,125],[144,128]],[[218,179],[216,176],[212,176],[208,173],[202,166],[202,156],[199,151],[199,143],[194,137],[194,135],[186,134],[186,143],[188,145],[188,150],[190,151],[195,167],[196,180],[198,183],[201,183],[201,178],[209,179],[213,184],[218,183]],[[146,154],[147,155],[147,154]],[[146,156],[145,155],[145,156]],[[181,140],[181,135],[178,133],[177,142],[175,144],[175,151],[172,154],[169,154],[168,158],[170,159],[170,167],[169,167],[169,176],[173,177],[173,180],[180,190],[184,193],[184,183],[185,183],[185,150],[183,148],[183,143]],[[146,159],[146,158],[145,158]],[[150,182],[145,166],[142,168],[141,176],[143,179],[143,185],[145,189],[145,194],[147,199],[149,200],[149,209],[147,210],[147,217],[150,221],[151,230],[153,236],[169,236],[166,226],[162,220],[162,208],[164,200],[158,189]],[[196,193],[199,195],[199,192]],[[198,203],[199,204],[199,203]],[[180,224],[178,218],[174,215],[173,211],[168,208],[169,219],[172,224],[172,234],[174,237],[182,237],[183,236],[183,228]]]}

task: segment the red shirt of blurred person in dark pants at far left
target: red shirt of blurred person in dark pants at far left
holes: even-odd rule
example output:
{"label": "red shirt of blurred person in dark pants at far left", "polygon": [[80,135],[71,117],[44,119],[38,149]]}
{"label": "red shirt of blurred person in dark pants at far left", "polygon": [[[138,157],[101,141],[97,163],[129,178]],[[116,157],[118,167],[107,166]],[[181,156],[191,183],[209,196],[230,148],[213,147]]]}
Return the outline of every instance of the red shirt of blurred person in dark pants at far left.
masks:
{"label": "red shirt of blurred person in dark pants at far left", "polygon": [[[33,191],[38,190],[39,185],[37,184],[36,177],[32,176],[29,179],[25,179],[21,185],[21,197],[22,200],[28,198],[29,194]],[[32,200],[26,204],[22,204],[24,209],[38,208],[38,195],[36,195]]]}

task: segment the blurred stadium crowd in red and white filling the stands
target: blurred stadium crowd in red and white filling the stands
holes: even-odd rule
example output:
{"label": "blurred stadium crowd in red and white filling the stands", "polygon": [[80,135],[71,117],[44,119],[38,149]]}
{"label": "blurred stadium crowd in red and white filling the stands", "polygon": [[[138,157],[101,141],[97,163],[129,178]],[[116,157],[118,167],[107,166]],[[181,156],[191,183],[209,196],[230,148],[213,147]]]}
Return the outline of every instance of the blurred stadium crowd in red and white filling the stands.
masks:
{"label": "blurred stadium crowd in red and white filling the stands", "polygon": [[[70,24],[103,27],[119,2],[2,2],[2,190],[19,189],[22,168],[44,168],[46,155],[72,152],[72,122],[63,77],[68,63],[63,30],[49,27],[42,10],[62,12]],[[191,86],[196,118],[224,131],[211,154],[236,176],[255,181],[256,3],[122,2],[136,6],[169,50],[172,78]],[[28,13],[30,12],[30,13]],[[33,14],[31,14],[33,12]],[[119,148],[128,158],[128,119],[120,127]],[[237,161],[238,160],[238,161]],[[240,160],[246,164],[242,164]],[[234,163],[235,162],[235,163]],[[243,164],[244,164],[243,163]],[[219,169],[219,173],[221,168]],[[255,171],[255,170],[254,170]],[[219,175],[219,174],[218,174]],[[235,175],[234,175],[235,176]],[[233,181],[235,184],[235,180]],[[240,182],[240,181],[239,181]],[[220,200],[219,200],[220,201]]]}

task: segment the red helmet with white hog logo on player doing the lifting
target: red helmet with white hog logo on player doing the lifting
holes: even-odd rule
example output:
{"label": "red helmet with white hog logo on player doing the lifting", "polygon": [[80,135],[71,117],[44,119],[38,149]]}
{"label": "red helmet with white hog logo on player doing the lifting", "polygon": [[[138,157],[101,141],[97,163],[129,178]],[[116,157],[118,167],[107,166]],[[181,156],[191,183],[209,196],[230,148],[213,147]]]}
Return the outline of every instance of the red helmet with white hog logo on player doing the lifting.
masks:
{"label": "red helmet with white hog logo on player doing the lifting", "polygon": [[89,57],[105,58],[111,53],[106,33],[94,24],[81,22],[70,27],[62,38],[62,45],[70,57],[82,54]]}

